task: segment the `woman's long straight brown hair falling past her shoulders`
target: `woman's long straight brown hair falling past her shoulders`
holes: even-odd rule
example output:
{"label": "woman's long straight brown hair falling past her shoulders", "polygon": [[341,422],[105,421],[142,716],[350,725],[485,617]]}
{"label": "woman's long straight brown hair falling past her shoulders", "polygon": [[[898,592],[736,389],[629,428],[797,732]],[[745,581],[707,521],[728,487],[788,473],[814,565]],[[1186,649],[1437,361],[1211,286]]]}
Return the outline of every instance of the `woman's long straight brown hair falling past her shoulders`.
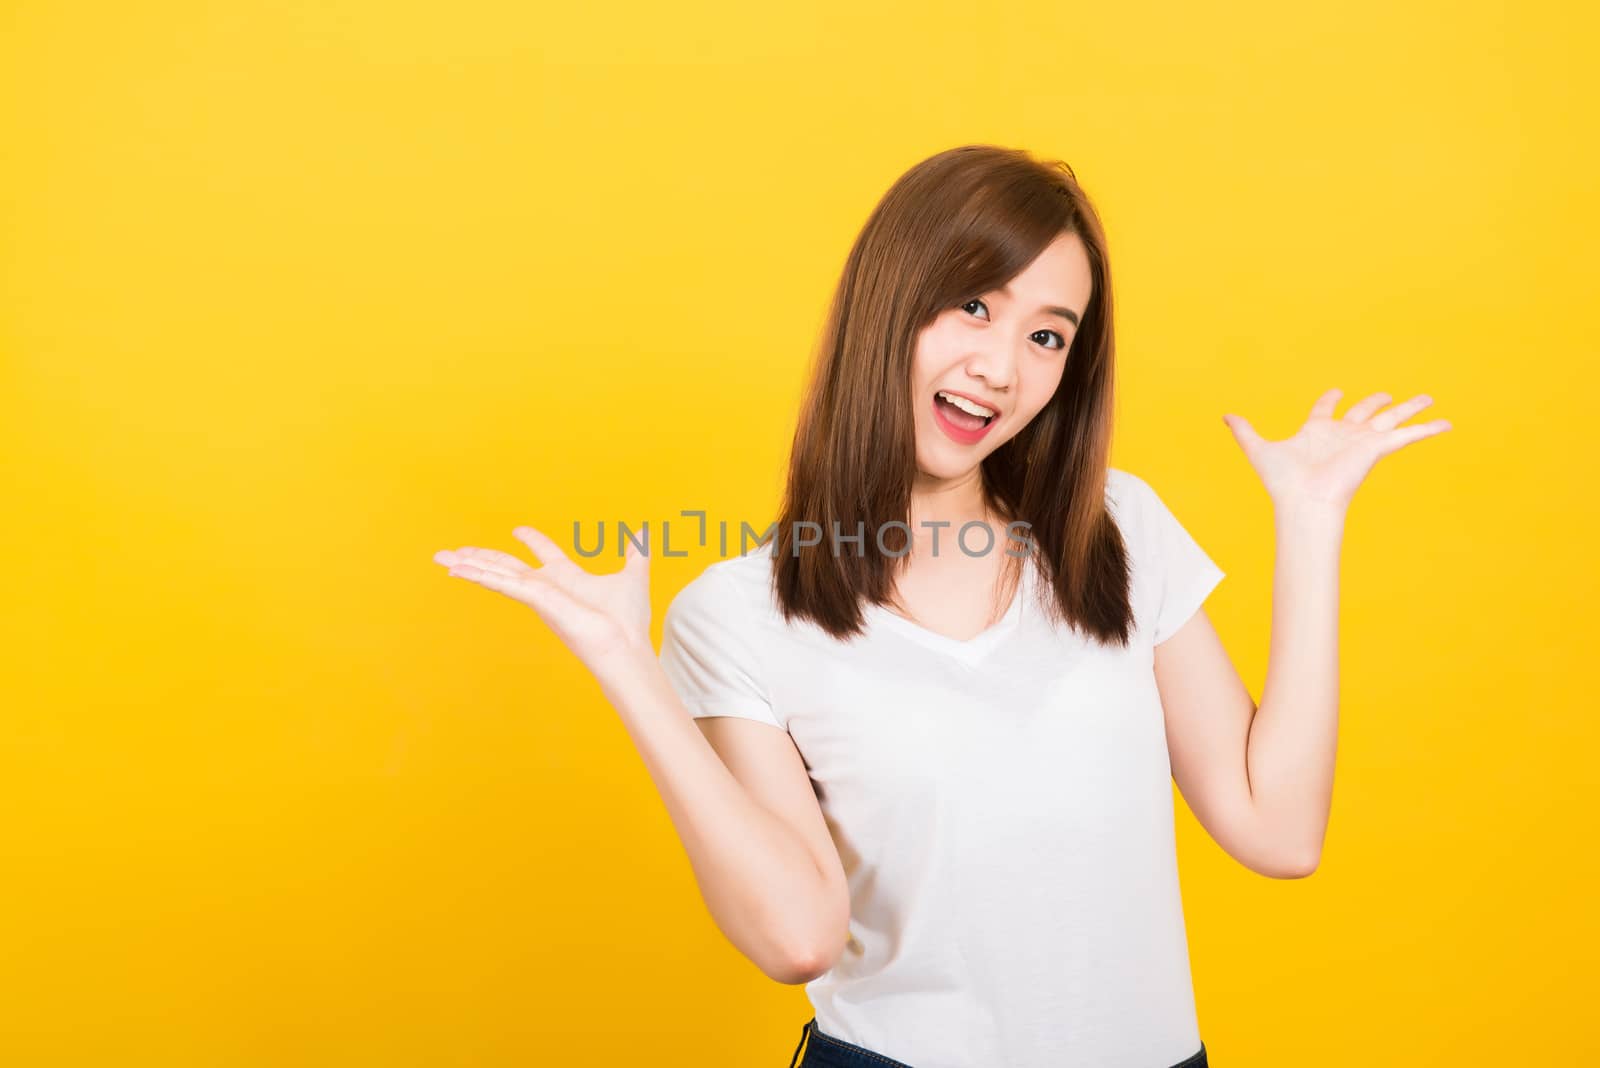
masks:
{"label": "woman's long straight brown hair falling past her shoulders", "polygon": [[[910,168],[850,249],[800,408],[776,523],[773,588],[786,619],[850,638],[866,622],[862,603],[891,600],[899,558],[878,552],[877,531],[909,516],[917,336],[942,310],[1006,285],[1062,232],[1077,233],[1088,251],[1090,302],[1061,385],[982,460],[982,492],[997,515],[1030,524],[1024,566],[1037,566],[1050,617],[1102,643],[1128,643],[1128,553],[1106,508],[1115,349],[1106,235],[1070,166],[984,144]],[[835,531],[854,534],[858,523],[864,552],[854,552],[859,542],[853,552],[834,552]],[[821,545],[795,545],[800,524],[821,531]]]}

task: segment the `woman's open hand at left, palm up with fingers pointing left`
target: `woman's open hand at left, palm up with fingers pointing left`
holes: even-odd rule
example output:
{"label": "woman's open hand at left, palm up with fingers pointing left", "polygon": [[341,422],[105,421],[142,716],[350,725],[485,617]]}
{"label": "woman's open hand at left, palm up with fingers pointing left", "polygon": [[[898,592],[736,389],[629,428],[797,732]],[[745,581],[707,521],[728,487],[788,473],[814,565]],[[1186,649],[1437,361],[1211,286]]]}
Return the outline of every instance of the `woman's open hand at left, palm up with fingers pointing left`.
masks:
{"label": "woman's open hand at left, palm up with fingers pointing left", "polygon": [[512,534],[544,564],[493,548],[462,547],[434,553],[450,574],[522,601],[555,632],[595,675],[614,654],[650,652],[650,556],[626,540],[622,569],[590,574],[562,547],[531,526]]}

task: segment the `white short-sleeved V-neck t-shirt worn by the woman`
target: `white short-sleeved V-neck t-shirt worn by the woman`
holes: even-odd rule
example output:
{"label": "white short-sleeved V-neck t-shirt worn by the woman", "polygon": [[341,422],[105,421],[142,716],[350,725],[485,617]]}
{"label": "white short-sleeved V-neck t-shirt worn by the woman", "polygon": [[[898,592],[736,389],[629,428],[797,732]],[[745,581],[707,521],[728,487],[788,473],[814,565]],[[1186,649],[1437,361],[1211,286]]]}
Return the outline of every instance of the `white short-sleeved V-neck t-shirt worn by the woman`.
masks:
{"label": "white short-sleeved V-neck t-shirt worn by the woman", "polygon": [[1030,563],[970,641],[880,606],[848,643],[787,624],[771,542],[667,608],[661,665],[690,713],[786,729],[810,769],[851,902],[843,954],[806,983],[826,1034],[915,1068],[1200,1049],[1152,648],[1224,572],[1138,475],[1110,468],[1106,499],[1133,560],[1128,649],[1050,625]]}

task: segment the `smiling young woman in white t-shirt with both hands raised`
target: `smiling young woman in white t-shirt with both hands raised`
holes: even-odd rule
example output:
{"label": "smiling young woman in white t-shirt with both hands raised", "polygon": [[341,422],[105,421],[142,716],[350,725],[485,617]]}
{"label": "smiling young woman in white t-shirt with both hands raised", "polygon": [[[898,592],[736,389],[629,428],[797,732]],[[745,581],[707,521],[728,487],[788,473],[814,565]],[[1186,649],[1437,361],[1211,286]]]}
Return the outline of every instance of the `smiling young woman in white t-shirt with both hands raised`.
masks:
{"label": "smiling young woman in white t-shirt with both hands raised", "polygon": [[1317,867],[1344,513],[1450,424],[1338,390],[1282,441],[1224,416],[1278,539],[1258,708],[1200,608],[1222,571],[1109,467],[1112,355],[1070,168],[941,152],[850,253],[771,537],[672,600],[659,659],[635,545],[435,556],[594,671],[718,927],[806,985],[806,1066],[1203,1066],[1170,782],[1248,868]]}

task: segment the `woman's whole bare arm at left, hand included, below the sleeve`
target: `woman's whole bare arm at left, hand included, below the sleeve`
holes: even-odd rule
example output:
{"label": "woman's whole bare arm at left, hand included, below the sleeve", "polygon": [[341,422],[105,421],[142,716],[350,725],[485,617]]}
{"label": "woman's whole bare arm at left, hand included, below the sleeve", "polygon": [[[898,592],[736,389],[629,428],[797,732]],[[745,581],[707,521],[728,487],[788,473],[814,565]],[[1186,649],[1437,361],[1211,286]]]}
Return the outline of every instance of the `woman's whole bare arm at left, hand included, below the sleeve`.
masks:
{"label": "woman's whole bare arm at left, hand included, below the sleeve", "polygon": [[843,951],[850,895],[787,731],[723,726],[722,716],[712,716],[718,726],[696,726],[651,646],[650,558],[634,545],[621,571],[590,574],[541,531],[514,532],[544,566],[475,547],[434,560],[534,609],[590,670],[643,756],[728,940],[781,983],[824,972]]}

